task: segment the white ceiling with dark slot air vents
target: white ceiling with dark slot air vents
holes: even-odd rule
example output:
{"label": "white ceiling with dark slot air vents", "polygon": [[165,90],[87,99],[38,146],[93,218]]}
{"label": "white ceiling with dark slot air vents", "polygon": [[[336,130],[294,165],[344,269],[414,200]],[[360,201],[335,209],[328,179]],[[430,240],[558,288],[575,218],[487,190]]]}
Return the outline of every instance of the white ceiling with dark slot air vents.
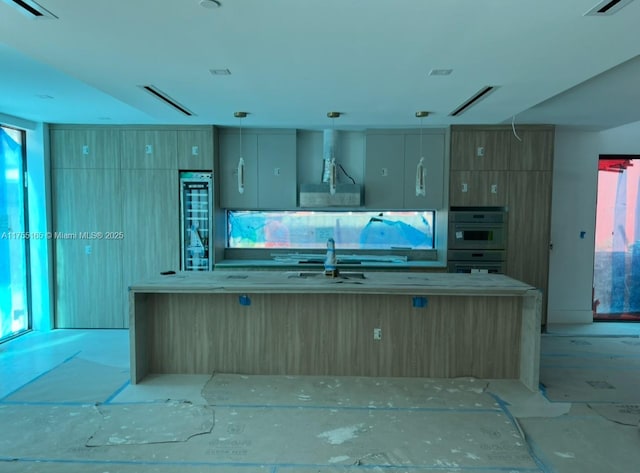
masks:
{"label": "white ceiling with dark slot air vents", "polygon": [[247,111],[246,127],[319,129],[339,111],[336,128],[362,129],[417,126],[417,110],[431,112],[425,126],[640,121],[639,0],[600,17],[584,16],[598,0],[37,1],[58,19],[0,2],[0,113],[32,121],[237,126],[233,112]]}

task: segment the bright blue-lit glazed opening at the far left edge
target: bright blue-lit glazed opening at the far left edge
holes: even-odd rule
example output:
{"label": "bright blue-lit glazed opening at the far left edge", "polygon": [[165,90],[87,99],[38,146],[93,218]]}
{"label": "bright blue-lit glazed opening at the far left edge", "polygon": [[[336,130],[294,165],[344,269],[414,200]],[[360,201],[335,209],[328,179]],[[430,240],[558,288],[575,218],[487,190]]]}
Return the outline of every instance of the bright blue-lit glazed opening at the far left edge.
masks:
{"label": "bright blue-lit glazed opening at the far left edge", "polygon": [[25,172],[24,131],[0,126],[0,341],[31,328]]}

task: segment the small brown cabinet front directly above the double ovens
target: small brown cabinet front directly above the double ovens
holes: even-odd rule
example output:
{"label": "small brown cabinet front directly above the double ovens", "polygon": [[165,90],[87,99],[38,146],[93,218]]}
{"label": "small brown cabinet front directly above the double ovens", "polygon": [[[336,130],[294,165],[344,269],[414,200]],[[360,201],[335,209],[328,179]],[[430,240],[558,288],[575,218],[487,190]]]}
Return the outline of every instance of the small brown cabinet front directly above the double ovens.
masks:
{"label": "small brown cabinet front directly above the double ovens", "polygon": [[502,207],[507,205],[505,171],[451,171],[449,205]]}

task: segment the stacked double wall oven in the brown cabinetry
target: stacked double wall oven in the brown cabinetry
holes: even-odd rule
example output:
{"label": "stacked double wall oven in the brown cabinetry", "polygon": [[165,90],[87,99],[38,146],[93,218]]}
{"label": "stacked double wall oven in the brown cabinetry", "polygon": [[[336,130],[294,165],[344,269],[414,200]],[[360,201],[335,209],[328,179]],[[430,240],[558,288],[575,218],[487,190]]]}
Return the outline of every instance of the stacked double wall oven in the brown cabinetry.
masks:
{"label": "stacked double wall oven in the brown cabinetry", "polygon": [[449,212],[448,271],[503,274],[507,212],[500,208],[455,208]]}

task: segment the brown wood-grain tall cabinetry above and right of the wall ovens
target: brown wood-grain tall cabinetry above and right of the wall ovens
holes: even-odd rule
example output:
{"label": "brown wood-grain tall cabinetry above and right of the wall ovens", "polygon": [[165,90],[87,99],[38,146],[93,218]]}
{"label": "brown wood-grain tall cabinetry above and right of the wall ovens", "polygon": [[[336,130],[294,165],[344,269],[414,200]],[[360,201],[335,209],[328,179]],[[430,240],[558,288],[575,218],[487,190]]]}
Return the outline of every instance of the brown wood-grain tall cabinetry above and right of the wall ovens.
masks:
{"label": "brown wood-grain tall cabinetry above and right of the wall ovens", "polygon": [[[517,136],[516,136],[517,135]],[[451,207],[504,207],[505,272],[539,288],[546,324],[551,193],[551,126],[455,126],[451,129]]]}

